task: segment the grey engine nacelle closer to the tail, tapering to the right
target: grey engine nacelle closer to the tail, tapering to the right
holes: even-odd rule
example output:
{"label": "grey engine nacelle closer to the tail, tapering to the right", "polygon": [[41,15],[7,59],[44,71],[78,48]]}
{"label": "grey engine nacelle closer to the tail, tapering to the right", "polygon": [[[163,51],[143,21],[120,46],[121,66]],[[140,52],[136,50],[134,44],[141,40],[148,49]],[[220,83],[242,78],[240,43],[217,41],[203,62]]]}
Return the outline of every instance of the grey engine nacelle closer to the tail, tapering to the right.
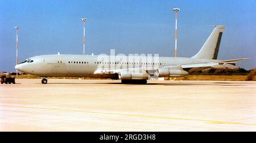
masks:
{"label": "grey engine nacelle closer to the tail, tapering to the right", "polygon": [[158,77],[183,77],[188,75],[188,72],[183,69],[158,69]]}

